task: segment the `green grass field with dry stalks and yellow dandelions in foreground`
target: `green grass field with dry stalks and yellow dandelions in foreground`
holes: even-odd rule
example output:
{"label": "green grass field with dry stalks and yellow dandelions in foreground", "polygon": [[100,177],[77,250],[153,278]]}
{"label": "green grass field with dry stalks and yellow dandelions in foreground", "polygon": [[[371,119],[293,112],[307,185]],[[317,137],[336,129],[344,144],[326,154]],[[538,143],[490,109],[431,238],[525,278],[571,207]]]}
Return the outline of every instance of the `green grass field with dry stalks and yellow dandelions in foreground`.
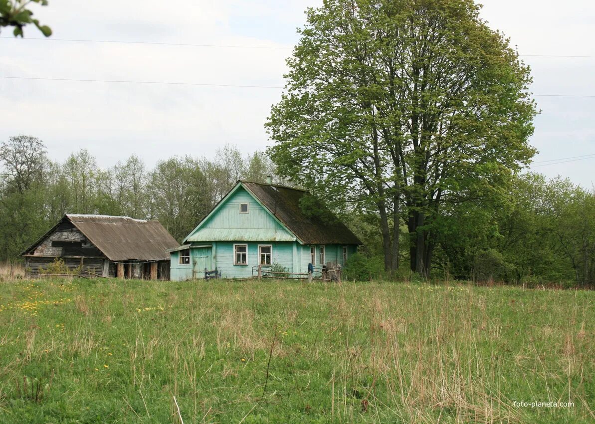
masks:
{"label": "green grass field with dry stalks and yellow dandelions in foreground", "polygon": [[0,422],[177,423],[174,396],[185,424],[595,422],[594,306],[510,287],[5,279]]}

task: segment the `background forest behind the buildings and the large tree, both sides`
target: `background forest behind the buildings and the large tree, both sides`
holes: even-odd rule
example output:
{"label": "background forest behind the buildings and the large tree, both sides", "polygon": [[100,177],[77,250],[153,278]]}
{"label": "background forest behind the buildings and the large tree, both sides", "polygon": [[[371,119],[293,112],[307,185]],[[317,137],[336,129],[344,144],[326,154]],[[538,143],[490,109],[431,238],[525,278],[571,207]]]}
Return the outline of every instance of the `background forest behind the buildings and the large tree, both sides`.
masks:
{"label": "background forest behind the buildings and the large tree, both sides", "polygon": [[[275,176],[264,152],[243,155],[230,145],[214,158],[171,157],[148,169],[131,156],[103,169],[84,149],[56,163],[42,141],[17,136],[0,144],[0,164],[0,261],[18,261],[64,213],[156,219],[181,241],[238,179],[264,182],[273,175],[275,182],[291,184]],[[348,205],[336,212],[365,243],[350,258],[350,278],[415,277],[406,243],[400,245],[398,272],[384,271],[377,214]],[[568,179],[513,175],[496,199],[453,205],[439,225],[432,278],[533,286],[588,286],[595,280],[595,197]],[[404,222],[400,227],[405,240]]]}

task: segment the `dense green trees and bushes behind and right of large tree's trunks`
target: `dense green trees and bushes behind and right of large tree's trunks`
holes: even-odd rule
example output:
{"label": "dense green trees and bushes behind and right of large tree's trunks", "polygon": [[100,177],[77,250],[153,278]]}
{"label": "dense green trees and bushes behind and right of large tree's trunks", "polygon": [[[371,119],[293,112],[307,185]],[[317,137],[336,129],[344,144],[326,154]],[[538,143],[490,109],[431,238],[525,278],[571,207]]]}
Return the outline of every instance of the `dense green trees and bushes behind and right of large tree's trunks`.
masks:
{"label": "dense green trees and bushes behind and right of large tree's trunks", "polygon": [[[353,278],[412,278],[409,247],[401,266],[384,270],[380,217],[358,213],[348,222],[365,245],[353,258]],[[465,202],[440,214],[431,275],[527,286],[595,285],[595,190],[539,173],[511,177],[494,202]],[[408,227],[401,223],[403,238]]]}

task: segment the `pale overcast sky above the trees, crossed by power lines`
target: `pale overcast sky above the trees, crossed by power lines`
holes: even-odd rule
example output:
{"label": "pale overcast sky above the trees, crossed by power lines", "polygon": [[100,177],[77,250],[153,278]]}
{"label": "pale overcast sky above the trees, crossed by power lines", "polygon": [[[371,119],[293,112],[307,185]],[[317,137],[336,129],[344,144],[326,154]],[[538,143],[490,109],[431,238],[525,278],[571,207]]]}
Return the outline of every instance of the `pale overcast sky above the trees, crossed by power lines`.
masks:
{"label": "pale overcast sky above the trees, crossed by power lines", "polygon": [[[262,46],[224,48],[15,40],[0,35],[0,76],[283,86],[296,27],[318,0],[50,0],[34,7],[54,39]],[[483,17],[521,55],[595,57],[595,3],[485,0]],[[174,6],[175,5],[175,6]],[[5,38],[10,37],[10,38]],[[33,27],[26,38],[41,37]],[[595,58],[531,57],[533,92],[594,95]],[[0,78],[0,139],[37,136],[54,160],[86,148],[108,167],[131,154],[152,167],[171,155],[210,157],[226,143],[269,144],[264,123],[281,89]],[[536,97],[533,169],[595,182],[595,97]],[[587,160],[551,164],[558,158]]]}

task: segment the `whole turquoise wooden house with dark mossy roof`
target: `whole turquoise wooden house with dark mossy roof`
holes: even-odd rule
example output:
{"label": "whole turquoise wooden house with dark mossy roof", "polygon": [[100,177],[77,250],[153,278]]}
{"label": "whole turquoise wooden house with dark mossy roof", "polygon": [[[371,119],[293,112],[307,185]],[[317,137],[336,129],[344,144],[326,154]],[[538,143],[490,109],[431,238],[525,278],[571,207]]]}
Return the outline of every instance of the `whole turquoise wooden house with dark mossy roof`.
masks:
{"label": "whole turquoise wooden house with dark mossy roof", "polygon": [[345,264],[361,244],[336,219],[308,216],[300,207],[307,192],[280,185],[239,181],[184,239],[170,250],[171,279],[249,278],[259,265],[278,264],[289,273],[308,273]]}

